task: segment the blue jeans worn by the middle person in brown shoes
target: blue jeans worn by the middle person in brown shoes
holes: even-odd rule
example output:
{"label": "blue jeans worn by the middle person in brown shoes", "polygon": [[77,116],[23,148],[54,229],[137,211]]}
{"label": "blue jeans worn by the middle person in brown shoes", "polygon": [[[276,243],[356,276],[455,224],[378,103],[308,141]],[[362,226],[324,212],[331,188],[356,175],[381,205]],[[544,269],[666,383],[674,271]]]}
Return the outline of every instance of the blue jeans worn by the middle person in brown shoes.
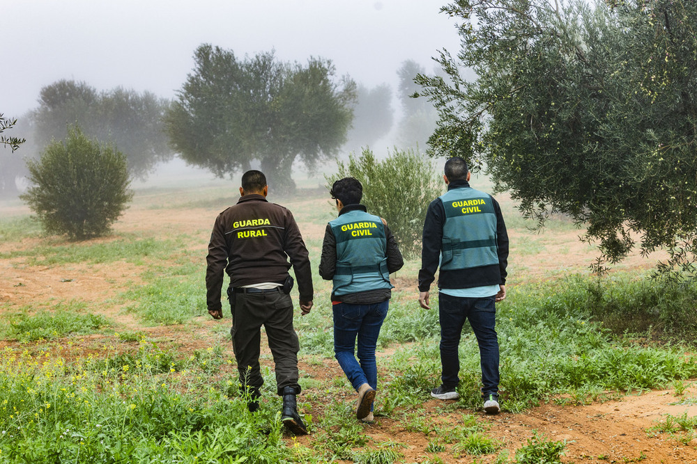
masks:
{"label": "blue jeans worn by the middle person in brown shoes", "polygon": [[[374,389],[378,387],[375,346],[388,314],[388,303],[389,300],[370,305],[333,305],[335,358],[356,391],[364,383]],[[357,337],[358,360],[353,355]]]}

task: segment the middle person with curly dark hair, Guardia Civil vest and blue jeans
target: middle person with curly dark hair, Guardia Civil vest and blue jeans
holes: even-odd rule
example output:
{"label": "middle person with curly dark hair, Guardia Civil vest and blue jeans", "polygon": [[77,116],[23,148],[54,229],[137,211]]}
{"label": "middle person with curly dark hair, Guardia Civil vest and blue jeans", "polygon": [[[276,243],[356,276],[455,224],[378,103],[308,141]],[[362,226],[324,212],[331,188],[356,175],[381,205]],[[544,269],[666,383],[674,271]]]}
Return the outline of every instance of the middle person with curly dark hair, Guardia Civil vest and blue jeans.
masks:
{"label": "middle person with curly dark hair, Guardia Civil vest and blue jeans", "polygon": [[404,259],[385,220],[360,205],[358,179],[337,180],[330,195],[339,217],[327,225],[319,273],[333,281],[334,352],[358,392],[356,417],[372,422],[378,387],[375,347],[392,296],[390,273],[399,271]]}

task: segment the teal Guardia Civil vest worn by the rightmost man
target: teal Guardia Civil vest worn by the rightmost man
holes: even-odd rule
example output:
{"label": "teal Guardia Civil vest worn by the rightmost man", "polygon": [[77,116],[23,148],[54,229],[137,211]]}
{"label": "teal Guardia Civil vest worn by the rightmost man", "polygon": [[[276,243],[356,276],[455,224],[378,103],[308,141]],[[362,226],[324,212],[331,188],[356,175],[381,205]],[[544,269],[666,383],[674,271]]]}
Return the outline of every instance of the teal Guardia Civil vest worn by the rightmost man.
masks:
{"label": "teal Guardia Civil vest worn by the rightmost man", "polygon": [[445,209],[441,271],[498,264],[496,212],[491,195],[462,187],[439,198]]}

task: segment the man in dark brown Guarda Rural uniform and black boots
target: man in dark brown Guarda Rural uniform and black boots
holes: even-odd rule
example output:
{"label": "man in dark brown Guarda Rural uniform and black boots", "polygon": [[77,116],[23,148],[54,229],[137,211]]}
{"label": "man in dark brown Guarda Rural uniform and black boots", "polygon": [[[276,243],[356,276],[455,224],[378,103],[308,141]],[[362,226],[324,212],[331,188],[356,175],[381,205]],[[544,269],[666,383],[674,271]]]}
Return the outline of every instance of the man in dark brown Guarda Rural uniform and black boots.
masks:
{"label": "man in dark brown Guarda Rural uniform and black boots", "polygon": [[[208,244],[206,289],[208,313],[222,319],[220,293],[224,271],[232,312],[232,346],[243,392],[250,411],[259,408],[263,378],[259,369],[261,326],[275,362],[277,393],[283,397],[282,421],[296,435],[307,433],[296,410],[298,335],[293,329],[293,302],[289,292],[293,266],[298,279],[300,310],[312,308],[312,271],[305,243],[293,214],[266,201],[266,176],[258,170],[242,176],[241,198],[215,219]],[[290,257],[290,263],[288,262]]]}

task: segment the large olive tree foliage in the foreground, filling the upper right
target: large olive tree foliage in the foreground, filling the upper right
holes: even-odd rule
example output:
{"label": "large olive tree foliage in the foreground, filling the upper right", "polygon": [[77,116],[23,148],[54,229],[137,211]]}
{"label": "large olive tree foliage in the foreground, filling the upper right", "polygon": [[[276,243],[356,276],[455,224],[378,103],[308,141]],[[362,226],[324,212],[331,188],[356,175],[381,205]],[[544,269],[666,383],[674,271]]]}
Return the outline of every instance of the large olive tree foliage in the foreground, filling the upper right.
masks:
{"label": "large olive tree foliage in the foreground, filling the upper right", "polygon": [[433,153],[486,166],[541,225],[551,211],[587,225],[608,262],[665,247],[663,270],[694,271],[697,2],[463,0],[443,11],[461,19],[463,46],[437,60],[450,82],[418,78],[439,113]]}

